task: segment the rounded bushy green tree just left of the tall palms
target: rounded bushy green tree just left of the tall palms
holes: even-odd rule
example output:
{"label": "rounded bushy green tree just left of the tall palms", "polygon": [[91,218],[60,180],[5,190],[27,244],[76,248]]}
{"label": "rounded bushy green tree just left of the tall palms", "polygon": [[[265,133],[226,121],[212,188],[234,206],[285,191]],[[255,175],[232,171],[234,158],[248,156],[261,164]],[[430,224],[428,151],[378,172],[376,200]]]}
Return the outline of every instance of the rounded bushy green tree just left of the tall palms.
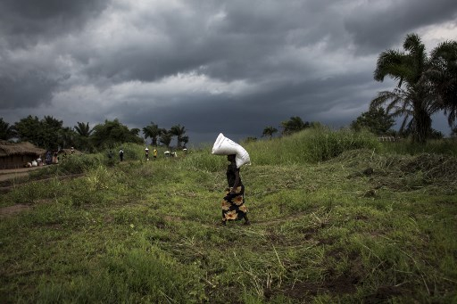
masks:
{"label": "rounded bushy green tree just left of the tall palms", "polygon": [[386,135],[393,133],[391,127],[395,125],[395,119],[387,114],[384,108],[371,106],[369,111],[361,113],[357,119],[353,120],[351,128],[361,130],[366,128],[376,135]]}

